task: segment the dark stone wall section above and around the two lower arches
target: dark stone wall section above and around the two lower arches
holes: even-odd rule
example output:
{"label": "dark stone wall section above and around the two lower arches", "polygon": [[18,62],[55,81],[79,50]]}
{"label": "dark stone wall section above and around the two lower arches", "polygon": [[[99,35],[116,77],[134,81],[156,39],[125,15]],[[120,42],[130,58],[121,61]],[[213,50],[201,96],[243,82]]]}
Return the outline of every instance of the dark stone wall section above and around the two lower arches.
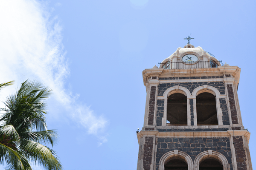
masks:
{"label": "dark stone wall section above and around the two lower arches", "polygon": [[193,161],[195,161],[195,157],[199,153],[206,150],[214,150],[227,158],[230,170],[233,170],[229,138],[158,138],[156,170],[159,169],[161,157],[172,150],[180,150],[187,153]]}

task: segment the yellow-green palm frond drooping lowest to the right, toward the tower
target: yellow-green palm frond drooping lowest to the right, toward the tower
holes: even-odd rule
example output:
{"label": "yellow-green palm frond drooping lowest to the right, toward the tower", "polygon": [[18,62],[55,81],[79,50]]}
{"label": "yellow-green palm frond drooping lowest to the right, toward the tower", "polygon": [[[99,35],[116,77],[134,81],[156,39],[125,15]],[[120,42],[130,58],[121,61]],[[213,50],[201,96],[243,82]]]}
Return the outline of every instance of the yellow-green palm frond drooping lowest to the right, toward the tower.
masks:
{"label": "yellow-green palm frond drooping lowest to the right, toward the tower", "polygon": [[55,151],[38,142],[21,139],[20,150],[26,153],[28,159],[35,163],[38,162],[47,170],[62,170],[63,168]]}

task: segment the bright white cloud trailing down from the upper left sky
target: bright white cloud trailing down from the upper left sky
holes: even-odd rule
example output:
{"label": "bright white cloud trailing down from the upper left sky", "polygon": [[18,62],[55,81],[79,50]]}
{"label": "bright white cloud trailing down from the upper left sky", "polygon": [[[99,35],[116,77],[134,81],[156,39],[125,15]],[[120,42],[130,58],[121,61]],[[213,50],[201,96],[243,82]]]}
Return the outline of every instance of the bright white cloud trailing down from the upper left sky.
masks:
{"label": "bright white cloud trailing down from the upper left sky", "polygon": [[[58,19],[51,17],[46,4],[35,0],[0,1],[0,82],[15,80],[12,88],[1,91],[1,99],[12,94],[26,79],[36,79],[54,90],[55,102],[73,112],[88,134],[107,141],[99,135],[107,120],[97,116],[90,107],[76,103],[78,94],[64,88],[70,70],[62,44],[62,28]],[[0,105],[2,107],[3,105]],[[70,116],[66,114],[66,116]]]}

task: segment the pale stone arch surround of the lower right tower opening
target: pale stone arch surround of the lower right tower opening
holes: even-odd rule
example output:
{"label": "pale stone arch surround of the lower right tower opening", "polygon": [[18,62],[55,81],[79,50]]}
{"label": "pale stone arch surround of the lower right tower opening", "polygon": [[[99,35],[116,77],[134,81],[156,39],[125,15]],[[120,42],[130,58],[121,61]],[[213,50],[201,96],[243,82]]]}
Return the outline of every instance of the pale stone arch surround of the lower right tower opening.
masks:
{"label": "pale stone arch surround of the lower right tower opening", "polygon": [[199,153],[198,156],[196,156],[195,161],[194,161],[195,170],[199,170],[199,164],[207,158],[214,158],[214,159],[217,159],[218,161],[220,161],[221,164],[223,165],[223,170],[230,169],[228,166],[229,164],[228,164],[227,158],[224,155],[222,155],[221,153],[216,152],[214,150],[207,150],[202,153]]}

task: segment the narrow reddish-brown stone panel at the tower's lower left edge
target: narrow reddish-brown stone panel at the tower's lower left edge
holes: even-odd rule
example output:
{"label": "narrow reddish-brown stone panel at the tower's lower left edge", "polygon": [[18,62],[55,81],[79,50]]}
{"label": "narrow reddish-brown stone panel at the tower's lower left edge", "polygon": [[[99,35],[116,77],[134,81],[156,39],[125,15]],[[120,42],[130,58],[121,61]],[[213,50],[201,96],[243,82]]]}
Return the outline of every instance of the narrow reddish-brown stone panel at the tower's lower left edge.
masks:
{"label": "narrow reddish-brown stone panel at the tower's lower left edge", "polygon": [[154,137],[145,137],[145,144],[143,147],[143,169],[144,170],[150,170],[150,165],[152,161],[153,140],[154,140]]}

